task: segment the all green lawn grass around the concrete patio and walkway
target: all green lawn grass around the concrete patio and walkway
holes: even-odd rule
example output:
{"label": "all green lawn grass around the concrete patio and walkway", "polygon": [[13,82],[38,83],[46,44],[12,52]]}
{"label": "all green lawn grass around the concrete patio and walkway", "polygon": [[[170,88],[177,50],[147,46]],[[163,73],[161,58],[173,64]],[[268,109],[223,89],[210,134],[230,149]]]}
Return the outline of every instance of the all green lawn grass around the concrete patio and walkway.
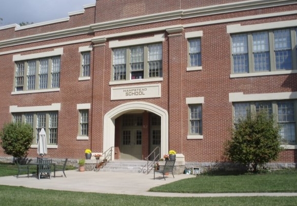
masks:
{"label": "all green lawn grass around the concrete patio and walkway", "polygon": [[[32,173],[36,169],[32,168]],[[0,176],[16,175],[13,164],[0,164]],[[199,175],[152,188],[155,192],[217,193],[217,192],[297,192],[297,171],[282,170],[269,174]],[[294,197],[152,197],[98,194],[24,187],[2,186],[0,205],[296,205]]]}

